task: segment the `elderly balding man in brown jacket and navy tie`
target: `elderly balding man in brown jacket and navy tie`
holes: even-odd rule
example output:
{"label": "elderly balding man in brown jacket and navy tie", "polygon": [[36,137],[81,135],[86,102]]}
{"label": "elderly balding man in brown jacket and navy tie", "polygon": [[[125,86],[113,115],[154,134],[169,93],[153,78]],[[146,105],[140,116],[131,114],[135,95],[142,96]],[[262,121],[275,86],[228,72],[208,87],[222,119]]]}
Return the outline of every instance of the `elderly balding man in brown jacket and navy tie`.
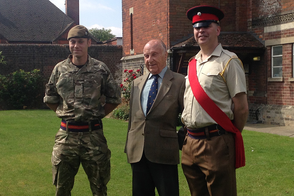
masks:
{"label": "elderly balding man in brown jacket and navy tie", "polygon": [[168,69],[166,47],[149,41],[143,50],[150,74],[136,78],[130,96],[125,152],[133,171],[133,196],[179,196],[177,118],[185,79]]}

